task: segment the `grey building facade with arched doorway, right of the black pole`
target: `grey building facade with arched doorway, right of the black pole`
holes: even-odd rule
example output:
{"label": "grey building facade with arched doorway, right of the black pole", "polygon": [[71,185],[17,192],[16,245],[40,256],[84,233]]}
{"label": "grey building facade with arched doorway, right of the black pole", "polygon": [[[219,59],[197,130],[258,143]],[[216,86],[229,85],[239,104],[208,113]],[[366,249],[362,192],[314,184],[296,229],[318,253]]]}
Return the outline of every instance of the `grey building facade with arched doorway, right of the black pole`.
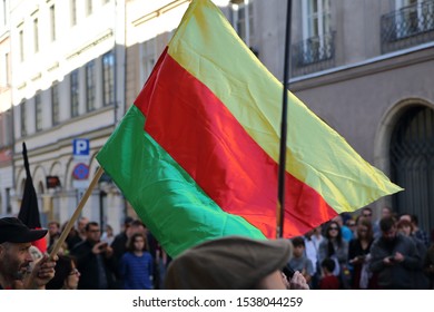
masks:
{"label": "grey building facade with arched doorway, right of the black pole", "polygon": [[434,228],[434,1],[293,2],[290,89],[405,188],[374,207]]}

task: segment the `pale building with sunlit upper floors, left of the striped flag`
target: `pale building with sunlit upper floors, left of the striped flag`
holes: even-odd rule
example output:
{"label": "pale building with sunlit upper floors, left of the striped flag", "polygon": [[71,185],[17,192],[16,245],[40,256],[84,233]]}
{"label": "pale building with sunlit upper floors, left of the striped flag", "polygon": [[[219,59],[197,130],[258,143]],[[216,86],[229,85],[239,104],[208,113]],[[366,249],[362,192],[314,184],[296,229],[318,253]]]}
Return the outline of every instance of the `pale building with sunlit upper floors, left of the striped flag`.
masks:
{"label": "pale building with sunlit upper floors, left of the striped flag", "polygon": [[[26,143],[42,223],[72,215],[125,114],[124,12],[124,1],[9,2],[14,185],[2,213],[19,212]],[[75,157],[75,139],[88,142],[85,158]],[[119,230],[125,201],[101,179],[82,215]]]}

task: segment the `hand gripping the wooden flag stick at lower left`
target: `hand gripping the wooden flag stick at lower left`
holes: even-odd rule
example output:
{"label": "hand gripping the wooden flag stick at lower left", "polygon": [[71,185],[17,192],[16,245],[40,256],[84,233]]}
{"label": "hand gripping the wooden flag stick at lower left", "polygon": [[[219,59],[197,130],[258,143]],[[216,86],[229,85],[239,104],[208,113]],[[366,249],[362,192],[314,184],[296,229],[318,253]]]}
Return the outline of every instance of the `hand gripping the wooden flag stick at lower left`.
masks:
{"label": "hand gripping the wooden flag stick at lower left", "polygon": [[55,266],[58,256],[53,260],[49,259],[49,255],[43,255],[34,263],[30,275],[24,280],[23,287],[27,290],[40,290],[45,289],[47,283],[55,277]]}

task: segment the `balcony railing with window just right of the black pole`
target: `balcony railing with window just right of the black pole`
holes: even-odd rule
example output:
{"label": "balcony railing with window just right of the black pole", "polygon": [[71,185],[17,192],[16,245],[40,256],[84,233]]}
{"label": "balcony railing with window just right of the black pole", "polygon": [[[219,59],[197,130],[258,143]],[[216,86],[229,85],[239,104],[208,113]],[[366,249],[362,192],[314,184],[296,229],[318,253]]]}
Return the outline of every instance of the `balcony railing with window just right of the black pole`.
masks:
{"label": "balcony railing with window just right of the black pole", "polygon": [[310,37],[292,47],[292,76],[331,68],[335,64],[335,31]]}

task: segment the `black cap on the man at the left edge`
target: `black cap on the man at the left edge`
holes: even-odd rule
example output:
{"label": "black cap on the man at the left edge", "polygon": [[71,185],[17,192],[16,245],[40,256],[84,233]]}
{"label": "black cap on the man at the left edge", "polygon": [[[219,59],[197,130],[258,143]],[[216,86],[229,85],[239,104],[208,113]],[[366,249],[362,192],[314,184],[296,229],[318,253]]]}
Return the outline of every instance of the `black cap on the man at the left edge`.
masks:
{"label": "black cap on the man at the left edge", "polygon": [[17,217],[0,218],[0,244],[31,243],[47,235],[47,230],[30,230]]}

